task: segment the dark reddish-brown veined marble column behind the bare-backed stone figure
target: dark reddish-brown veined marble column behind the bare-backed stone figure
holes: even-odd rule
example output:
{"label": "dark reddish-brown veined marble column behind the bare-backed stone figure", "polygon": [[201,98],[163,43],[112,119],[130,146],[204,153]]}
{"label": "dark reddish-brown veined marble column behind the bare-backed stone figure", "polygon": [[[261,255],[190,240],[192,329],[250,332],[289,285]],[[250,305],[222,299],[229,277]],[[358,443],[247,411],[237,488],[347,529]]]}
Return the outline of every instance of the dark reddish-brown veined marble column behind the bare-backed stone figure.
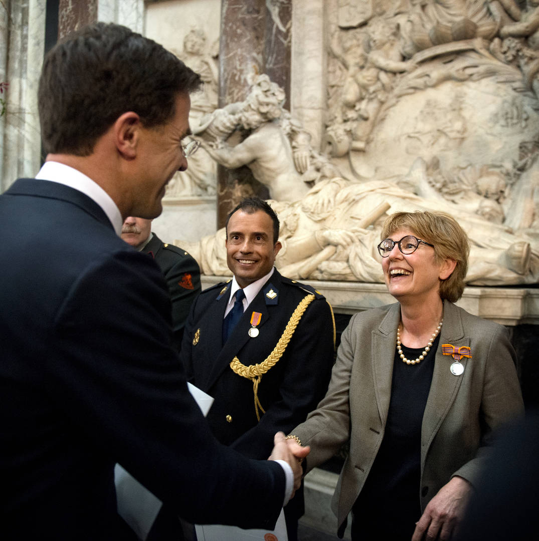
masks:
{"label": "dark reddish-brown veined marble column behind the bare-backed stone figure", "polygon": [[[281,85],[290,103],[290,22],[292,1],[229,0],[222,3],[219,47],[219,107],[242,101],[251,81],[266,73]],[[269,196],[247,167],[217,169],[217,227],[244,195]]]}

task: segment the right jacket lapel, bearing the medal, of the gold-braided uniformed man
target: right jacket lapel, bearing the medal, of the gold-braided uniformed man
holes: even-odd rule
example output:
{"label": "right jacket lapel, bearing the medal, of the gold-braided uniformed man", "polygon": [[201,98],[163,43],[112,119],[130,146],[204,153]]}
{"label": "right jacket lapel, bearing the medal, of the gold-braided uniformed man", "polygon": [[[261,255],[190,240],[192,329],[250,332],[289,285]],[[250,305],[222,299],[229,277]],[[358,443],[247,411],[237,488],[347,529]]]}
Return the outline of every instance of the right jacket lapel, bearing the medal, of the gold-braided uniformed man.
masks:
{"label": "right jacket lapel, bearing the medal, of the gold-braided uniformed man", "polygon": [[[281,275],[277,271],[274,271],[267,283],[274,286],[274,289],[276,289],[276,291],[279,291],[281,289]],[[216,355],[217,359],[213,363],[212,370],[207,380],[207,388],[210,388],[215,383],[219,375],[224,370],[226,370],[226,368],[228,368],[230,362],[238,354],[238,352],[241,351],[241,349],[249,340],[252,340],[249,336],[249,329],[251,328],[250,321],[253,312],[259,312],[262,314],[260,323],[258,324],[258,329],[260,329],[261,333],[264,332],[264,325],[266,325],[267,322],[270,320],[271,313],[270,307],[268,307],[265,298],[265,291],[267,291],[267,289],[267,285],[264,285],[261,288],[256,297],[252,300],[251,304],[243,313],[242,319],[239,320],[238,324],[233,329],[229,339],[222,346],[220,352]],[[274,301],[272,304],[275,304],[277,306],[278,299],[277,302]],[[242,361],[241,358],[239,360]],[[251,363],[249,361],[246,361],[244,364]]]}

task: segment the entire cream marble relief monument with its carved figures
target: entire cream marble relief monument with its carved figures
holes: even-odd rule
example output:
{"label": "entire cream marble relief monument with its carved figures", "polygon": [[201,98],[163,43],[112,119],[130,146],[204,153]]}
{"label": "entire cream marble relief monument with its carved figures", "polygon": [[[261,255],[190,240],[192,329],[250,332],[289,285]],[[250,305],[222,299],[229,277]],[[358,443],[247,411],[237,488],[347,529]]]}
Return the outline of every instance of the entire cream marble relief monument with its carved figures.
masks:
{"label": "entire cream marble relief monument with its carved figures", "polygon": [[[283,224],[282,271],[381,281],[385,216],[438,209],[470,236],[467,283],[537,283],[539,2],[339,6],[322,151],[267,76],[194,130],[218,163],[246,164],[268,187]],[[223,244],[220,230],[189,247],[204,273],[228,274]]]}

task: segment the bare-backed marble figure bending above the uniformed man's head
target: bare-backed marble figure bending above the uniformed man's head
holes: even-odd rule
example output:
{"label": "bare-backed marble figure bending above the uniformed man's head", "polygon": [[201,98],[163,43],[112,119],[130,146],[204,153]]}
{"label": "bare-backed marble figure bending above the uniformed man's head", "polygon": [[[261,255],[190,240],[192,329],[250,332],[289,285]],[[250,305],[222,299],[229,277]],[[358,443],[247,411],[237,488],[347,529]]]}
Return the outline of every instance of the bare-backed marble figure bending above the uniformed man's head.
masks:
{"label": "bare-backed marble figure bending above the uniformed man's head", "polygon": [[284,91],[258,76],[245,101],[232,103],[193,124],[206,152],[224,167],[248,166],[272,197],[295,201],[323,175],[335,174],[310,146],[309,134],[283,109]]}

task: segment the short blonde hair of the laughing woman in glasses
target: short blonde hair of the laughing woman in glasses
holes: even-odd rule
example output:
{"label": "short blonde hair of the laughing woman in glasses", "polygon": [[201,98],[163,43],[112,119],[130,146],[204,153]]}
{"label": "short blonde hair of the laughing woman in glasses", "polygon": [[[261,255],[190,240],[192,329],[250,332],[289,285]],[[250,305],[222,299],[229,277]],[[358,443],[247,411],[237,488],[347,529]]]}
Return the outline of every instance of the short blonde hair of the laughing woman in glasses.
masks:
{"label": "short blonde hair of the laughing woman in glasses", "polygon": [[447,258],[457,262],[449,278],[440,281],[440,297],[458,301],[464,291],[470,254],[470,241],[464,229],[445,212],[395,212],[384,222],[381,239],[387,239],[399,229],[410,229],[421,240],[434,245],[437,262]]}

